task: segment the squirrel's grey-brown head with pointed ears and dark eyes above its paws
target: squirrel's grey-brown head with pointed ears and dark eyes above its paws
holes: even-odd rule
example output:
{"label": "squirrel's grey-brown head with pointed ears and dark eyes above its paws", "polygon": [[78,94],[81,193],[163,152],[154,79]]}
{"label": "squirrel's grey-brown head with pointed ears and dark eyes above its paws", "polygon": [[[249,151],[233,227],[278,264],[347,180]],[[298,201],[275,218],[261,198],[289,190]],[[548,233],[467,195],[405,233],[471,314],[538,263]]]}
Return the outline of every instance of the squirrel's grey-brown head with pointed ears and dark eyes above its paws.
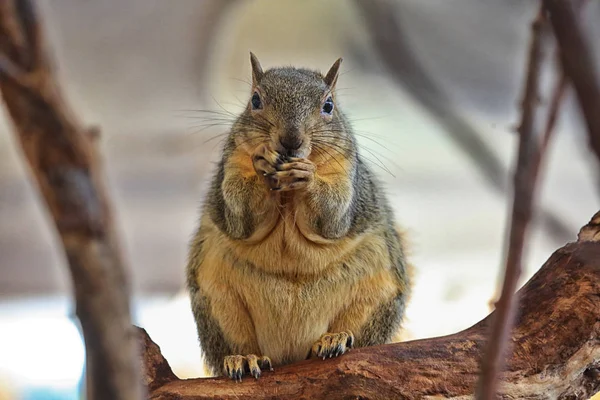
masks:
{"label": "squirrel's grey-brown head with pointed ears and dark eyes above its paws", "polygon": [[[238,143],[243,142],[250,149],[270,142],[275,151],[290,157],[308,158],[313,151],[321,156],[334,153],[331,144],[347,136],[347,123],[335,95],[342,59],[324,75],[293,67],[263,71],[253,53],[250,63],[250,99],[233,129],[236,134],[241,133]],[[339,143],[338,146],[346,147]]]}

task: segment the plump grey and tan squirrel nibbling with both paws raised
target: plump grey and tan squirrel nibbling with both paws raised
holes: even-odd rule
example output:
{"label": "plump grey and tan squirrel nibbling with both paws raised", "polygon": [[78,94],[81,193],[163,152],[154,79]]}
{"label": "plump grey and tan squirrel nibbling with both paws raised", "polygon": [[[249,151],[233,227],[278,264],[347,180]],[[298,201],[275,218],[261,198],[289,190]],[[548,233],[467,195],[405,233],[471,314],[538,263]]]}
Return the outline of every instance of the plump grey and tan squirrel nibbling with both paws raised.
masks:
{"label": "plump grey and tan squirrel nibbling with both paws raised", "polygon": [[241,380],[389,343],[410,292],[392,210],[329,71],[263,71],[232,124],[190,244],[206,366]]}

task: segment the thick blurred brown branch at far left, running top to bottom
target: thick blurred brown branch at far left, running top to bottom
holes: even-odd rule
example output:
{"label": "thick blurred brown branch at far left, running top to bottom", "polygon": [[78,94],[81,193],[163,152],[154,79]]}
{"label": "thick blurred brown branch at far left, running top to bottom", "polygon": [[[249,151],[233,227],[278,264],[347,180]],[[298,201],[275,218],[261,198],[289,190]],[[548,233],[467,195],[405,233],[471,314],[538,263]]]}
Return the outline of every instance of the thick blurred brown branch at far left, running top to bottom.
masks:
{"label": "thick blurred brown branch at far left, running top to bottom", "polygon": [[[26,0],[0,2],[0,91],[62,241],[87,359],[88,399],[142,398],[129,282],[94,149],[64,101]],[[40,333],[43,334],[43,333]]]}

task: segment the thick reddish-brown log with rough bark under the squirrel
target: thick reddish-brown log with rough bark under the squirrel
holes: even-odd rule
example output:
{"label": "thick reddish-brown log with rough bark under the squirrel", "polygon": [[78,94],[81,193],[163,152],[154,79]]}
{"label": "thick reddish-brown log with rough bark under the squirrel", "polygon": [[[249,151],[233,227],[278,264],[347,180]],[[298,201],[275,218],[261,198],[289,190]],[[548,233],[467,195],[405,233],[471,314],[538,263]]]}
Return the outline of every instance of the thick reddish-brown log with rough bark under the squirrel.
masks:
{"label": "thick reddish-brown log with rough bark under the squirrel", "polygon": [[[502,399],[589,399],[600,391],[600,212],[519,291]],[[152,399],[471,398],[494,313],[462,332],[355,349],[259,380],[180,380],[145,331]]]}

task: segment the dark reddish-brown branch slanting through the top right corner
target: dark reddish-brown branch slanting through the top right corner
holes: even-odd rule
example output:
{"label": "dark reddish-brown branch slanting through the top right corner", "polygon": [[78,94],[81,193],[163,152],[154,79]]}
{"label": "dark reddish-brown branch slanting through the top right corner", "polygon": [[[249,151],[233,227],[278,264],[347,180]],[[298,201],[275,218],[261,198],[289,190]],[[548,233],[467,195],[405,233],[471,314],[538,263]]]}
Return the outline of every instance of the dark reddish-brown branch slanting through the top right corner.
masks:
{"label": "dark reddish-brown branch slanting through the top right corner", "polygon": [[573,83],[587,125],[590,145],[600,161],[600,78],[589,39],[571,1],[543,0],[561,50],[565,73]]}

